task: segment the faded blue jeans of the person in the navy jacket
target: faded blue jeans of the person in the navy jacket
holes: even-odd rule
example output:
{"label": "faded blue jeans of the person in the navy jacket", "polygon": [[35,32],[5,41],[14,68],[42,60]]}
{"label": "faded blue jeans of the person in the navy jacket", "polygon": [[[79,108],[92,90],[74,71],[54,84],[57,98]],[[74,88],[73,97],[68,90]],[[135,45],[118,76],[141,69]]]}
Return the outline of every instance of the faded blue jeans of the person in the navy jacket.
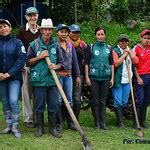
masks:
{"label": "faded blue jeans of the person in the navy jacket", "polygon": [[0,81],[0,95],[2,97],[3,112],[10,111],[19,114],[20,80]]}

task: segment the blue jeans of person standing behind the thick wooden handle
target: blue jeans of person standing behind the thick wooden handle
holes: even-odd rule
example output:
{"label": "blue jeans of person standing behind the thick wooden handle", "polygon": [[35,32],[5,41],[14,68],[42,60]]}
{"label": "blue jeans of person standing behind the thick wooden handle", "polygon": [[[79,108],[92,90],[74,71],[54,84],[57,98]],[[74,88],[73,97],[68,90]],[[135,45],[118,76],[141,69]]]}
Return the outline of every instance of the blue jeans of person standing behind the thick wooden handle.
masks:
{"label": "blue jeans of person standing behind the thick wooden handle", "polygon": [[[64,90],[64,93],[67,97],[67,100],[69,104],[72,106],[72,92],[73,92],[73,81],[72,81],[72,76],[65,76],[60,78],[60,83],[62,85],[62,88]],[[62,98],[60,96],[59,98],[59,104],[62,104]]]}

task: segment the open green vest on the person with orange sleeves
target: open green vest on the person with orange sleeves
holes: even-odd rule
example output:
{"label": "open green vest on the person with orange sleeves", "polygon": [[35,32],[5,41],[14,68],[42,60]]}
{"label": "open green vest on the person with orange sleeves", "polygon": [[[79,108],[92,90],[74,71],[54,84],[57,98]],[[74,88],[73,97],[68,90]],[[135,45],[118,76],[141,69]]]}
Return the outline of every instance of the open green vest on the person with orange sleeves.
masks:
{"label": "open green vest on the person with orange sleeves", "polygon": [[[117,53],[118,57],[122,56],[121,50],[119,49],[118,46],[114,47],[113,50]],[[123,63],[118,68],[115,68],[115,77],[114,77],[115,87],[121,86],[122,69],[123,69]]]}

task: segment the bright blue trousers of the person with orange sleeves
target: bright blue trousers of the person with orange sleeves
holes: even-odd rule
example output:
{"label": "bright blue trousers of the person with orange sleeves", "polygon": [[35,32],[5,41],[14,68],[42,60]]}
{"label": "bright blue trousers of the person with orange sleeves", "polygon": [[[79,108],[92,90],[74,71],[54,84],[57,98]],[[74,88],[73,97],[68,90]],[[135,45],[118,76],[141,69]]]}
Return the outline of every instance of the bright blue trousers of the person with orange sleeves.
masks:
{"label": "bright blue trousers of the person with orange sleeves", "polygon": [[121,87],[113,87],[112,95],[114,100],[114,107],[126,107],[128,104],[130,94],[130,84],[121,84]]}

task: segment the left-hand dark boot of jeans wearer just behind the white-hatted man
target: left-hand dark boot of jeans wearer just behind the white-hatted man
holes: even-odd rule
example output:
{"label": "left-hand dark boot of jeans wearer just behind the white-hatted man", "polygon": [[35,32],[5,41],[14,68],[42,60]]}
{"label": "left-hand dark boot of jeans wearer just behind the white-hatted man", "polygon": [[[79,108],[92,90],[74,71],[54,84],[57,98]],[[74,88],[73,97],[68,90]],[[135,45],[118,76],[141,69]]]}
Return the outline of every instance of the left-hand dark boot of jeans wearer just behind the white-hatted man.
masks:
{"label": "left-hand dark boot of jeans wearer just behind the white-hatted man", "polygon": [[61,132],[64,128],[64,120],[62,114],[62,105],[59,105],[57,112],[57,131]]}

